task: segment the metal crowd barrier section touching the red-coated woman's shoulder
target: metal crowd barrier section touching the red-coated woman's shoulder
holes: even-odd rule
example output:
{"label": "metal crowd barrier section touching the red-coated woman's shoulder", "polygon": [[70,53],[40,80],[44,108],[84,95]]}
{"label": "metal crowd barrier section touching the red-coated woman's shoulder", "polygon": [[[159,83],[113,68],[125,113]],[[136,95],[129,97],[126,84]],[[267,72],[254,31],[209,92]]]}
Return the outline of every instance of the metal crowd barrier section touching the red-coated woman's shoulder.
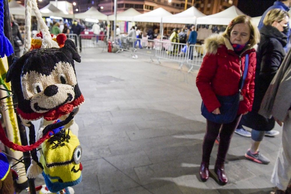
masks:
{"label": "metal crowd barrier section touching the red-coated woman's shoulder", "polygon": [[201,66],[204,55],[205,52],[202,45],[189,45],[187,49],[187,65],[190,67],[188,73],[191,72],[194,66]]}

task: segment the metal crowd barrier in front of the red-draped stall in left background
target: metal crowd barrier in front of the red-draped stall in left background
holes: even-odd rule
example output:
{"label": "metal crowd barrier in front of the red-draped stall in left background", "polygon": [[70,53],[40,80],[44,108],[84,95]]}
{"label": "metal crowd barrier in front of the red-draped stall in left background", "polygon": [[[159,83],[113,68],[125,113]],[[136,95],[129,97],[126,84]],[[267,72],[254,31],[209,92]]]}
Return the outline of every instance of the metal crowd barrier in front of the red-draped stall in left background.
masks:
{"label": "metal crowd barrier in front of the red-draped stall in left background", "polygon": [[[78,36],[79,50],[82,48],[102,48],[102,52],[107,48],[107,37],[106,35],[96,35],[96,34],[80,34]],[[80,50],[81,51],[81,50]]]}

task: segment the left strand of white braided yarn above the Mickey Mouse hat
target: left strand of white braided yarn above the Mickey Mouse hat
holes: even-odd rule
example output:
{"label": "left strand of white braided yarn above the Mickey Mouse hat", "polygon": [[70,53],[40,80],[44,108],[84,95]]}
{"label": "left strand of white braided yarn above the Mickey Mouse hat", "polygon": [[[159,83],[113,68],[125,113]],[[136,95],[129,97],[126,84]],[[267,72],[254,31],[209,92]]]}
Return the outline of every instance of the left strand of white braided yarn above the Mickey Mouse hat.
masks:
{"label": "left strand of white braided yarn above the Mickey Mouse hat", "polygon": [[31,0],[25,0],[25,34],[24,34],[24,46],[23,46],[23,54],[26,54],[28,51],[30,51],[31,48],[31,9],[32,4]]}

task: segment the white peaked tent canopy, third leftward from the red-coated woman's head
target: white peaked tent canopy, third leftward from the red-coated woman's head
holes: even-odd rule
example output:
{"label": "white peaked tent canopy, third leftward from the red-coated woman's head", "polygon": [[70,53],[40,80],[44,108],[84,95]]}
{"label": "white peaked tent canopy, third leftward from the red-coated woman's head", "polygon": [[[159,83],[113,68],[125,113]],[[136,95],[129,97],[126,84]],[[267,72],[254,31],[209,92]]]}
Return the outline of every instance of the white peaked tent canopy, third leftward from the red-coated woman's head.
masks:
{"label": "white peaked tent canopy, third leftward from the red-coated woman's head", "polygon": [[150,12],[136,15],[133,17],[134,22],[153,22],[161,23],[162,17],[173,15],[163,8],[157,8]]}

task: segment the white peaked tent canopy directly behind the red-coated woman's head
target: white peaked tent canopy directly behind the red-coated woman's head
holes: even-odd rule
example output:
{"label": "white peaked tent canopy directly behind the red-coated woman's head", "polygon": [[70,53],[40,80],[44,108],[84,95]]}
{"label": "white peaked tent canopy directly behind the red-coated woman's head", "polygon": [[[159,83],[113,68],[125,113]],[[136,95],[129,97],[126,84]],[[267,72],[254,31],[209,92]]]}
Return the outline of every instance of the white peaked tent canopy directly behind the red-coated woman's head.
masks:
{"label": "white peaked tent canopy directly behind the red-coated woman's head", "polygon": [[236,6],[231,6],[219,13],[197,18],[196,24],[228,25],[233,18],[239,15],[245,14]]}

